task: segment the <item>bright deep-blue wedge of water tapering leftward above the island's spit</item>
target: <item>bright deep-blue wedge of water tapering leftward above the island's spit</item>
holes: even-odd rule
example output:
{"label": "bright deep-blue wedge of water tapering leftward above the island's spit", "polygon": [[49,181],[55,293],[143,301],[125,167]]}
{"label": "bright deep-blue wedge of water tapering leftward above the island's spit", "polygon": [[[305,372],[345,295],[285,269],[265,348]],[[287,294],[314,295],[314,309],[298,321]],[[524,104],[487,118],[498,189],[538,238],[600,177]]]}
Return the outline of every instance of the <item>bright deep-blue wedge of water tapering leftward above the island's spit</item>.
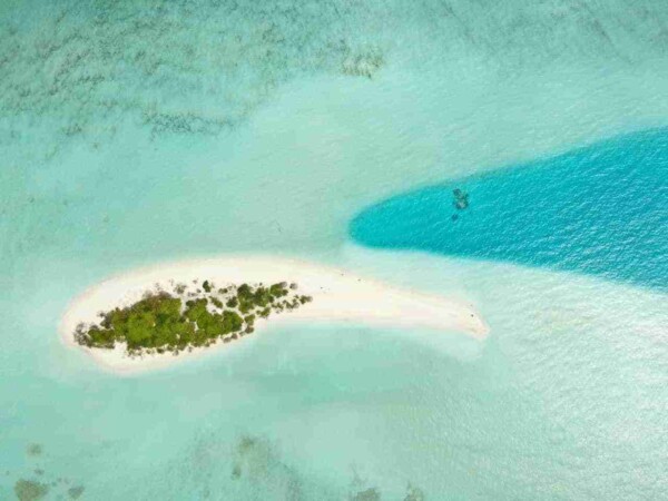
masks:
{"label": "bright deep-blue wedge of water tapering leftward above the island's spit", "polygon": [[352,237],[668,288],[668,129],[406,193]]}

